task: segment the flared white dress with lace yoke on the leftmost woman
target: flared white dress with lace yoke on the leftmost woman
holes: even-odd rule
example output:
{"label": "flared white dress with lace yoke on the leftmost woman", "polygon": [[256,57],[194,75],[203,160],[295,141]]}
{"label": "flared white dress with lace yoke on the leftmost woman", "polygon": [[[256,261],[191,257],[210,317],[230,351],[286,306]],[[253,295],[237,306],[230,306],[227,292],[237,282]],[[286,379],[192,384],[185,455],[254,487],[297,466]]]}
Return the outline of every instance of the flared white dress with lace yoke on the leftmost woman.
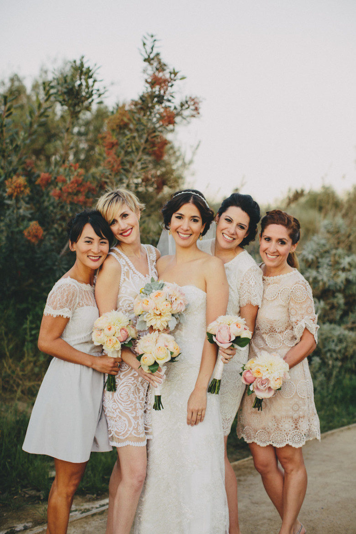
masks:
{"label": "flared white dress with lace yoke on the leftmost woman", "polygon": [[[91,341],[99,317],[94,287],[61,278],[52,288],[44,315],[69,319],[61,339],[77,350],[100,355]],[[68,462],[85,462],[91,451],[110,451],[102,411],[104,374],[54,357],[39,388],[23,450]]]}

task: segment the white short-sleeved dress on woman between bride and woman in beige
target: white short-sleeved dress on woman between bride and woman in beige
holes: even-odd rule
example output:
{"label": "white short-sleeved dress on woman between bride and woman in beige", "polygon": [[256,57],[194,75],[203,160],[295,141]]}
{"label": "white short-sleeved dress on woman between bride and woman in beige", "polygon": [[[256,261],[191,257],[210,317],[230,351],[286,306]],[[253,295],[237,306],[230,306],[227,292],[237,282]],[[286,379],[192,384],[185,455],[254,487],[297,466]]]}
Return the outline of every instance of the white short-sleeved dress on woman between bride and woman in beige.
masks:
{"label": "white short-sleeved dress on woman between bride and woman in beige", "polygon": [[[199,248],[213,255],[215,239],[200,242]],[[233,260],[225,263],[225,272],[229,286],[226,313],[239,315],[240,308],[247,304],[261,305],[263,293],[262,271],[247,250],[243,250]],[[230,434],[231,425],[245,390],[245,386],[241,382],[240,372],[242,365],[248,360],[248,354],[249,345],[238,349],[231,362],[224,366],[219,394],[224,436]]]}

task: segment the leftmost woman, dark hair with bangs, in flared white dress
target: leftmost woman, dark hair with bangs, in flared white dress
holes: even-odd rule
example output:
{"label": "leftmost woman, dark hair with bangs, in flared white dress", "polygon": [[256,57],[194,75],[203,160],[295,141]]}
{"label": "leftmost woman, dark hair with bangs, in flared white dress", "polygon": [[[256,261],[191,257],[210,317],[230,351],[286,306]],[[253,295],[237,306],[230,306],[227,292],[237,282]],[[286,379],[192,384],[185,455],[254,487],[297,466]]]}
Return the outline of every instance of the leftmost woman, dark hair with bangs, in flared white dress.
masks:
{"label": "leftmost woman, dark hair with bangs, in flared white dress", "polygon": [[56,476],[48,501],[48,532],[65,534],[74,493],[91,451],[110,451],[102,412],[104,374],[117,374],[117,359],[100,356],[91,341],[99,317],[94,274],[113,234],[98,211],[68,225],[72,269],[56,282],[43,312],[38,347],[53,356],[39,388],[23,450],[54,458]]}

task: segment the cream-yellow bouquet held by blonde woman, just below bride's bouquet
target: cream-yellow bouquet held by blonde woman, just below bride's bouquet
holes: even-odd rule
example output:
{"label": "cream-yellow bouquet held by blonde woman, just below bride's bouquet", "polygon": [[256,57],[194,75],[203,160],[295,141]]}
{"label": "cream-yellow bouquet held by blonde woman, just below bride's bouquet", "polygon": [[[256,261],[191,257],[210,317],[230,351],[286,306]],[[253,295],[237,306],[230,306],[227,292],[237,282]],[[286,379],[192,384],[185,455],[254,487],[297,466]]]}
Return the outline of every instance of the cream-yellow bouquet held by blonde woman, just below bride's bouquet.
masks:
{"label": "cream-yellow bouquet held by blonde woman, just below bride's bouquet", "polygon": [[[139,354],[137,359],[146,373],[155,373],[161,366],[164,376],[164,364],[174,362],[180,354],[180,349],[173,336],[155,331],[140,337],[136,344],[136,352]],[[154,410],[163,409],[161,387],[162,384],[159,384],[155,388]]]}

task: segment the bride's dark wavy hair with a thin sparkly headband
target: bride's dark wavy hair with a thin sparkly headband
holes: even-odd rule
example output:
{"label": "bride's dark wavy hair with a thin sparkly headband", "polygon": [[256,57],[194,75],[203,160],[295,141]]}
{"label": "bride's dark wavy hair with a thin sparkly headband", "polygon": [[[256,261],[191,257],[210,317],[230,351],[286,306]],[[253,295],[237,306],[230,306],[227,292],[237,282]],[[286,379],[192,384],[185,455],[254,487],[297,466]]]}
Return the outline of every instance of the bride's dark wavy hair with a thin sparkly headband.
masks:
{"label": "bride's dark wavy hair with a thin sparkly headband", "polygon": [[168,200],[161,209],[163,215],[163,226],[169,230],[169,225],[173,213],[181,208],[184,204],[194,204],[199,209],[202,223],[205,224],[202,235],[205,235],[209,230],[210,224],[214,219],[214,212],[209,208],[208,202],[205,200],[203,193],[196,189],[184,189],[173,193],[170,200]]}

